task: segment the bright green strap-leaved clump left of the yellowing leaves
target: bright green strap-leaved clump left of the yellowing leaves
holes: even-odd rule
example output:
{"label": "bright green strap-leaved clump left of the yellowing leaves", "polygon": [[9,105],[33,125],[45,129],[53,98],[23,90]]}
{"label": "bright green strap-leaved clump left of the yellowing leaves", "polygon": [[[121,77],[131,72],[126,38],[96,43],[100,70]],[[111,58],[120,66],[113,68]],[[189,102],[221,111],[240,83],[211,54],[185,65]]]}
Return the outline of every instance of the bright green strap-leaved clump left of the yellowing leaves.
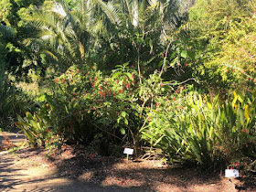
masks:
{"label": "bright green strap-leaved clump left of the yellowing leaves", "polygon": [[214,144],[218,137],[201,96],[179,93],[171,101],[162,102],[162,106],[151,115],[143,132],[151,137],[151,143],[160,147],[172,164],[196,161],[209,165],[216,161],[218,151]]}

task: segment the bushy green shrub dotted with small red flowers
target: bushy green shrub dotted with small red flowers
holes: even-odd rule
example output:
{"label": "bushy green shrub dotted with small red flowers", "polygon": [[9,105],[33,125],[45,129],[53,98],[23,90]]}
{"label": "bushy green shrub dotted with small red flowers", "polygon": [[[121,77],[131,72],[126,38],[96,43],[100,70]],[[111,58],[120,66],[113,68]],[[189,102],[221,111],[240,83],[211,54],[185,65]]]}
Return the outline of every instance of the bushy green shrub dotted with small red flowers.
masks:
{"label": "bushy green shrub dotted with small red flowers", "polygon": [[[49,86],[53,89],[38,98],[34,116],[27,112],[26,120],[19,117],[16,123],[28,137],[37,137],[30,140],[32,144],[48,140],[45,133],[49,130],[62,133],[70,143],[90,144],[101,135],[137,149],[141,141],[139,130],[146,123],[145,109],[165,91],[159,72],[149,79],[139,78],[127,63],[117,66],[111,76],[103,76],[94,67],[73,66]],[[34,126],[34,121],[40,126]]]}

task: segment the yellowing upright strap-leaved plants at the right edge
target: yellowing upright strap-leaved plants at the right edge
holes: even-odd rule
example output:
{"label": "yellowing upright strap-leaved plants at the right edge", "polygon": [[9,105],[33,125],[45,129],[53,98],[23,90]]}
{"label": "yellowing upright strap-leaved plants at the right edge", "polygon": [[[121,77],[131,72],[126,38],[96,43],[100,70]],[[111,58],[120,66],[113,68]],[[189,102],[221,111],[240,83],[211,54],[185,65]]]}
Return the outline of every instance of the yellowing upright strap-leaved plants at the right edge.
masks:
{"label": "yellowing upright strap-leaved plants at the right edge", "polygon": [[255,158],[255,104],[255,92],[235,91],[227,101],[216,99],[212,105],[208,104],[212,121],[219,129],[221,140],[217,146],[227,162],[246,156]]}

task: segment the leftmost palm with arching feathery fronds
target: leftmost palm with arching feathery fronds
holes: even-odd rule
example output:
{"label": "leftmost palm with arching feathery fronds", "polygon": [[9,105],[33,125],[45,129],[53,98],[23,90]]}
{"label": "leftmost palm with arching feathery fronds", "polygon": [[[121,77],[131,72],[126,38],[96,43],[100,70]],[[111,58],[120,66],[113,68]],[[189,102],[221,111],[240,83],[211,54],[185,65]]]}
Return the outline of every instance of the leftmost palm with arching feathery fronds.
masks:
{"label": "leftmost palm with arching feathery fronds", "polygon": [[39,54],[58,61],[64,69],[84,63],[86,50],[93,37],[90,7],[69,10],[62,1],[52,9],[37,9],[31,21],[35,33],[26,43]]}

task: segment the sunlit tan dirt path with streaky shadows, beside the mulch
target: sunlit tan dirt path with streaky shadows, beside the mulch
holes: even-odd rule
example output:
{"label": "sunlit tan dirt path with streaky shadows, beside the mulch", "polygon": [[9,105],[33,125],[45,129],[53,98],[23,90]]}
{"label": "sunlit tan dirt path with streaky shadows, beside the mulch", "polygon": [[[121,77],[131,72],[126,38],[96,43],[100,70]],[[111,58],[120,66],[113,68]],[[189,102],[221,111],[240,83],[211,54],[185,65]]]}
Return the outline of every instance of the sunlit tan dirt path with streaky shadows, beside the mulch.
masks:
{"label": "sunlit tan dirt path with streaky shadows, beside the mulch", "polygon": [[48,165],[29,165],[27,161],[29,160],[0,152],[0,191],[139,191],[83,183],[57,176],[55,168],[49,168]]}

